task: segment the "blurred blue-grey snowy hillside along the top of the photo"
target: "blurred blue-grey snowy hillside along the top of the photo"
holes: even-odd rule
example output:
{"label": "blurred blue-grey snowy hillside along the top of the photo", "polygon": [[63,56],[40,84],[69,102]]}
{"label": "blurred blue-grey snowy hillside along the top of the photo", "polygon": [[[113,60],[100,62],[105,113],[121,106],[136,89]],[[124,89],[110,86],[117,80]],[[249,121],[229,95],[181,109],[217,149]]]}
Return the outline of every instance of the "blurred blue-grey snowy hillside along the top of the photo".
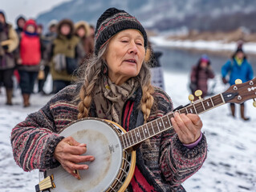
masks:
{"label": "blurred blue-grey snowy hillside along the top of the photo", "polygon": [[[245,26],[256,31],[254,0],[71,0],[39,14],[47,26],[51,19],[86,20],[95,25],[109,7],[127,10],[147,28],[173,30],[186,26],[197,30],[235,30]],[[225,19],[223,19],[225,18]]]}

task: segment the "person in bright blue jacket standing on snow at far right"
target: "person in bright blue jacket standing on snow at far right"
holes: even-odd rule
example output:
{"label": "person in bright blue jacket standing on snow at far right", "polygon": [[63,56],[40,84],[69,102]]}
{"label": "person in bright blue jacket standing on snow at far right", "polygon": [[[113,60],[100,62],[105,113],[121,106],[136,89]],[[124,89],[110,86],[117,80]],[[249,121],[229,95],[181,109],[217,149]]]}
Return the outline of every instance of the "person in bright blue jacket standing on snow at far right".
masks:
{"label": "person in bright blue jacket standing on snow at far right", "polygon": [[[227,74],[230,74],[230,86],[235,84],[236,79],[241,79],[242,82],[247,82],[254,78],[254,71],[250,66],[250,63],[246,59],[246,54],[243,52],[242,47],[238,47],[231,60],[226,62],[224,66],[221,67],[222,82],[228,83],[226,80]],[[235,117],[235,106],[234,103],[230,103],[232,116]],[[240,107],[241,118],[245,121],[250,120],[250,118],[245,117],[245,105],[241,104]]]}

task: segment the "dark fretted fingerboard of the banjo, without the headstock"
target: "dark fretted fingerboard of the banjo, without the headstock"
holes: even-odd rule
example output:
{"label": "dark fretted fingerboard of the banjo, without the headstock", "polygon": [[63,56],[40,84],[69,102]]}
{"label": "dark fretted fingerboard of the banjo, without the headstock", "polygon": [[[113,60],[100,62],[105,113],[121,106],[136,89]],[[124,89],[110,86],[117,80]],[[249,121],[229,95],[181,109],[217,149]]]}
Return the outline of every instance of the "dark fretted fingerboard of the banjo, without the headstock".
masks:
{"label": "dark fretted fingerboard of the banjo, without the headstock", "polygon": [[161,118],[157,118],[152,122],[145,123],[144,125],[138,126],[125,134],[121,134],[120,141],[124,150],[126,150],[132,146],[136,146],[140,142],[144,142],[148,138],[152,138],[156,134],[161,134],[165,130],[173,129],[171,118],[174,117],[174,112],[178,112],[179,114],[202,114],[207,110],[211,110],[225,103],[226,102],[222,94],[217,94],[204,100],[201,99],[181,108],[180,110],[175,110]]}

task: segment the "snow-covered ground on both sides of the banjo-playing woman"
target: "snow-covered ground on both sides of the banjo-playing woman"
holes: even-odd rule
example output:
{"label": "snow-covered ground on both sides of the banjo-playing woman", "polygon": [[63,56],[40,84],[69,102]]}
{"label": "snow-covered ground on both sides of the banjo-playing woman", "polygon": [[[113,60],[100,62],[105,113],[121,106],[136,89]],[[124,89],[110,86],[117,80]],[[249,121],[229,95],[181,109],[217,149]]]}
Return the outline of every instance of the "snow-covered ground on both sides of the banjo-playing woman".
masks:
{"label": "snow-covered ground on both sides of the banjo-playing woman", "polygon": [[[217,77],[217,79],[220,79]],[[189,102],[188,75],[165,72],[165,90],[173,99],[174,106]],[[228,87],[216,81],[216,94]],[[211,82],[210,82],[211,83]],[[49,83],[48,83],[49,85]],[[14,106],[5,106],[5,95],[0,94],[0,191],[35,191],[38,172],[25,173],[12,157],[10,146],[11,129],[38,110],[50,99],[39,94],[31,96],[30,108],[22,107],[22,98],[16,93]],[[238,111],[237,111],[238,112]],[[231,118],[229,105],[217,107],[201,114],[203,131],[208,141],[208,158],[196,174],[185,183],[188,192],[244,192],[256,191],[256,108],[252,100],[246,103],[250,122]]]}

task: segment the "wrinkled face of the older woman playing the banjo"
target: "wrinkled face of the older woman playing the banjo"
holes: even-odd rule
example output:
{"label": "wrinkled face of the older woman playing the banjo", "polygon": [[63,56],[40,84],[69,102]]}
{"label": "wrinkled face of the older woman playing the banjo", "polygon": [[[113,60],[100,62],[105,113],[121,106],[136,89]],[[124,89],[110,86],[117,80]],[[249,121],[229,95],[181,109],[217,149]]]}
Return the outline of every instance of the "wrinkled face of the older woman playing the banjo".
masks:
{"label": "wrinkled face of the older woman playing the banjo", "polygon": [[116,85],[136,77],[145,57],[144,38],[138,30],[122,30],[109,42],[105,60],[108,76]]}

